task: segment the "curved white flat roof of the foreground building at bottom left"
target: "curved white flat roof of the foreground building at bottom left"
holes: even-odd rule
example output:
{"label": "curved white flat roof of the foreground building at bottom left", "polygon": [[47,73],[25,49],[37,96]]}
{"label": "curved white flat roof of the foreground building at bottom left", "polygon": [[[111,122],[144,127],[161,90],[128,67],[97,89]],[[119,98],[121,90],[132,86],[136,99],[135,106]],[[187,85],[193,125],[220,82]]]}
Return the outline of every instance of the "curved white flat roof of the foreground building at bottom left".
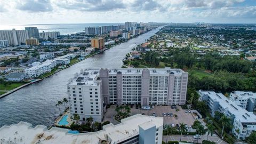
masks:
{"label": "curved white flat roof of the foreground building at bottom left", "polygon": [[71,134],[67,129],[20,122],[0,128],[0,139],[2,143],[90,143],[98,144],[99,140],[109,140],[111,143],[121,142],[139,134],[139,125],[163,125],[163,117],[133,115],[121,120],[120,124],[107,124],[103,130],[98,132]]}

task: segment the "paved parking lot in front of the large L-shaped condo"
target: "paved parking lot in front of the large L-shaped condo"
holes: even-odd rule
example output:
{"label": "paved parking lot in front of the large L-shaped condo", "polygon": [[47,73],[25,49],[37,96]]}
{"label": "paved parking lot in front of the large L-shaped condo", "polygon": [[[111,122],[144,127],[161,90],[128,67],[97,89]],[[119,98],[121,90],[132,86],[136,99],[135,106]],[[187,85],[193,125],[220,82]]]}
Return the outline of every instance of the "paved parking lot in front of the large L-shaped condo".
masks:
{"label": "paved parking lot in front of the large L-shaped condo", "polygon": [[[111,106],[107,109],[106,115],[104,118],[104,121],[110,121],[113,124],[116,124],[117,122],[113,119],[113,116],[116,114],[115,111],[116,106]],[[191,115],[191,113],[185,113],[185,110],[183,110],[180,106],[177,107],[179,109],[176,111],[176,109],[172,109],[170,106],[155,106],[154,108],[151,108],[150,110],[141,110],[140,108],[136,109],[135,106],[131,108],[131,115],[135,114],[145,114],[152,116],[153,113],[156,114],[156,116],[164,117],[164,124],[179,124],[184,123],[189,125],[193,125],[195,119]],[[166,116],[163,116],[163,113],[166,113]],[[173,116],[167,116],[167,113],[172,113]],[[174,115],[177,115],[177,118],[174,117]]]}

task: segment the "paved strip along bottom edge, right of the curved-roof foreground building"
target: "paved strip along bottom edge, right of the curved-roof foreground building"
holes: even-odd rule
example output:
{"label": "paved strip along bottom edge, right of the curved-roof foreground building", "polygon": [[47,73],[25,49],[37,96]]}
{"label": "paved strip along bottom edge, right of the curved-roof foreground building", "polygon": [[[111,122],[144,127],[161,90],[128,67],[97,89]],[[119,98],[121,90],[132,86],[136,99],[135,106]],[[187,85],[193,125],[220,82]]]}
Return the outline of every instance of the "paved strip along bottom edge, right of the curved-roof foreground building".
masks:
{"label": "paved strip along bottom edge, right of the curved-roof foreground building", "polygon": [[[163,141],[165,142],[167,138],[167,141],[180,141],[180,135],[163,135]],[[202,135],[201,139],[198,139],[198,142],[201,143],[203,140],[207,139],[207,135]],[[227,142],[221,140],[217,135],[209,135],[208,140],[214,141],[217,144],[228,144]],[[193,138],[193,135],[182,135],[181,141],[188,141],[188,142],[196,142],[197,139]]]}

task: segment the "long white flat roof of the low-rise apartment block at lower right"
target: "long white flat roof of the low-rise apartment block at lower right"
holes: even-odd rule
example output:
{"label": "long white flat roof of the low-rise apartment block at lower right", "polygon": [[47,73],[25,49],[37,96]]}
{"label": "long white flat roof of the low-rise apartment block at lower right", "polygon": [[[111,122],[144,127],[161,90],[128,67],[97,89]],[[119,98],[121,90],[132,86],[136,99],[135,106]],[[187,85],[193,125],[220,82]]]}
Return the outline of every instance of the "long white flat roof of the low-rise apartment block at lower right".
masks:
{"label": "long white flat roof of the low-rise apartment block at lower right", "polygon": [[231,114],[235,115],[241,123],[256,123],[256,115],[236,105],[235,102],[229,100],[222,93],[215,93],[214,91],[199,91],[207,94],[214,101],[218,101],[219,105],[224,109],[228,109]]}

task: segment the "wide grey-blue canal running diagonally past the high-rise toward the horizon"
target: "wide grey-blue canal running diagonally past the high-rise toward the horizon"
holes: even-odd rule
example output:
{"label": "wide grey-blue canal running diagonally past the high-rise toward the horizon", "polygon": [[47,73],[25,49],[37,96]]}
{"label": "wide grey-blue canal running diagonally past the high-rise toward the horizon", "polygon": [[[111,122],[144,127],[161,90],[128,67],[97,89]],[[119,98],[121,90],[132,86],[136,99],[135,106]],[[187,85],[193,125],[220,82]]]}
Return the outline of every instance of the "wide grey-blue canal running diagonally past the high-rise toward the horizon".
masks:
{"label": "wide grey-blue canal running diagonally past the high-rise toward the horizon", "polygon": [[[67,98],[66,84],[68,79],[84,68],[120,68],[125,54],[131,52],[133,47],[144,43],[145,39],[153,36],[158,29],[133,38],[130,41],[116,45],[105,52],[87,58],[75,65],[60,71],[43,81],[23,87],[22,89],[0,99],[0,127],[28,122],[50,126],[59,110],[55,104]],[[62,111],[64,106],[61,106]]]}

